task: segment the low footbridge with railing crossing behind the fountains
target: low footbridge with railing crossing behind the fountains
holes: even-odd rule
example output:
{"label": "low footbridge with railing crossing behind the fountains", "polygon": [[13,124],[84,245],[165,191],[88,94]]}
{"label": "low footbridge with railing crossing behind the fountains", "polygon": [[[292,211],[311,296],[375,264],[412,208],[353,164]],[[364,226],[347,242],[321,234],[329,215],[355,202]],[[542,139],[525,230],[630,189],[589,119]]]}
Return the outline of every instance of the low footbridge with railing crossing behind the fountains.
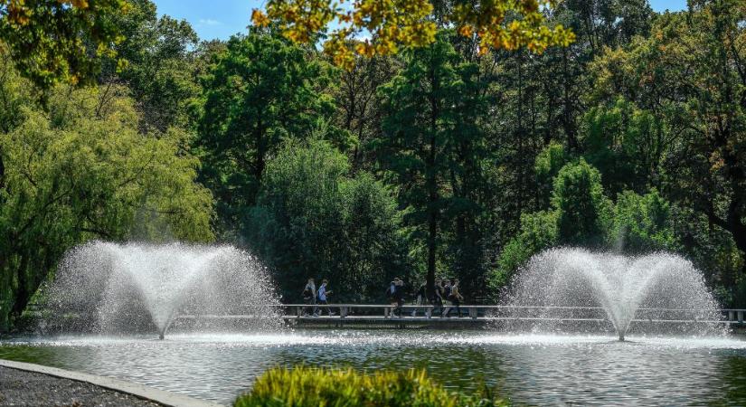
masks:
{"label": "low footbridge with railing crossing behind the fountains", "polygon": [[[448,327],[452,325],[479,326],[489,323],[526,323],[553,321],[556,323],[609,324],[604,308],[600,307],[542,307],[462,305],[460,315],[456,307],[432,305],[405,305],[397,308],[378,304],[281,304],[282,318],[292,325],[333,326],[377,325],[394,327]],[[314,311],[318,315],[314,315]],[[444,312],[445,311],[445,312]],[[443,314],[449,313],[449,317]],[[637,308],[632,324],[723,324],[731,327],[746,327],[746,309],[720,309],[721,319],[709,310],[676,308]],[[180,315],[176,319],[250,319],[254,315]]]}

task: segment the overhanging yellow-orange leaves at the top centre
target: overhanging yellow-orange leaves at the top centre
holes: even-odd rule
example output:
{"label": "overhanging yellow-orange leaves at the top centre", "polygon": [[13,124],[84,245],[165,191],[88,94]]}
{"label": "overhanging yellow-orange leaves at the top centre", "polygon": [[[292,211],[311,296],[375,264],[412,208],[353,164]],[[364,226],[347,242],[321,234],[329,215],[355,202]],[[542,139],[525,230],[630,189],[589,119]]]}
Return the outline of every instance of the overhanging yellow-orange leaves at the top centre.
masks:
{"label": "overhanging yellow-orange leaves at the top centre", "polygon": [[[269,0],[266,14],[253,10],[251,21],[267,26],[275,21],[282,33],[296,43],[316,41],[332,23],[341,28],[329,33],[324,51],[338,66],[351,69],[355,55],[373,57],[398,52],[401,46],[420,47],[435,41],[437,26],[428,0],[357,0],[342,6],[331,0]],[[481,53],[488,49],[527,47],[543,52],[550,46],[567,46],[575,40],[570,30],[546,26],[545,11],[555,0],[477,0],[455,5],[444,23],[459,34],[479,38]],[[510,16],[510,17],[508,17]],[[360,35],[370,39],[355,42]]]}

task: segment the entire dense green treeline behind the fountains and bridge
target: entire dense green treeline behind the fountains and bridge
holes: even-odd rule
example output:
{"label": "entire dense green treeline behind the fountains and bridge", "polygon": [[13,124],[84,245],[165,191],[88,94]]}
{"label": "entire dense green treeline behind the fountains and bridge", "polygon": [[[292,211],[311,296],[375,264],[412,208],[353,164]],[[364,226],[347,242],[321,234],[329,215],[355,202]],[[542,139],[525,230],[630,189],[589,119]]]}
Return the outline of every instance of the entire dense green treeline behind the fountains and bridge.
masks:
{"label": "entire dense green treeline behind the fountains and bridge", "polygon": [[288,301],[307,277],[339,300],[393,276],[496,298],[551,246],[677,251],[746,307],[741,1],[568,0],[547,15],[568,47],[479,52],[443,28],[351,71],[271,25],[200,43],[128,5],[92,86],[33,86],[0,52],[5,327],[94,238],[232,242]]}

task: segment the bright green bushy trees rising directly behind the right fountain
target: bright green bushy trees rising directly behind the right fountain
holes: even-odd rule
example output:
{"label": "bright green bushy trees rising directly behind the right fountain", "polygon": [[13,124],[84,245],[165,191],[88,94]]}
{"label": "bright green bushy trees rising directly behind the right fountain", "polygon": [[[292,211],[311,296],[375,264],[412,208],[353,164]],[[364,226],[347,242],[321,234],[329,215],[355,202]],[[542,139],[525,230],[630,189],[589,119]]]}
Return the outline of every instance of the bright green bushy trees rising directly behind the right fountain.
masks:
{"label": "bright green bushy trees rising directly behind the right fountain", "polygon": [[[537,168],[545,169],[543,165]],[[524,213],[520,232],[503,247],[489,281],[494,292],[531,256],[552,246],[594,247],[633,255],[680,249],[673,205],[655,189],[644,195],[624,191],[612,203],[604,194],[600,172],[582,158],[562,166],[553,184],[552,209]]]}

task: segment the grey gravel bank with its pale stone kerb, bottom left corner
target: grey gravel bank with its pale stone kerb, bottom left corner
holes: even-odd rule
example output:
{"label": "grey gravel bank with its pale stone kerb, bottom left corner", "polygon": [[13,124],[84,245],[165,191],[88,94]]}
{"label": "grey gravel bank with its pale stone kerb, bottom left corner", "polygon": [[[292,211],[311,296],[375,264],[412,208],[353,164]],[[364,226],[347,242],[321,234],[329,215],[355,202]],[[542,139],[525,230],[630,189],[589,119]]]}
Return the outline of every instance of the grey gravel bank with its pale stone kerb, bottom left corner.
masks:
{"label": "grey gravel bank with its pale stone kerb, bottom left corner", "polygon": [[41,364],[0,359],[0,405],[17,407],[80,405],[111,407],[217,407],[110,377],[82,374]]}

